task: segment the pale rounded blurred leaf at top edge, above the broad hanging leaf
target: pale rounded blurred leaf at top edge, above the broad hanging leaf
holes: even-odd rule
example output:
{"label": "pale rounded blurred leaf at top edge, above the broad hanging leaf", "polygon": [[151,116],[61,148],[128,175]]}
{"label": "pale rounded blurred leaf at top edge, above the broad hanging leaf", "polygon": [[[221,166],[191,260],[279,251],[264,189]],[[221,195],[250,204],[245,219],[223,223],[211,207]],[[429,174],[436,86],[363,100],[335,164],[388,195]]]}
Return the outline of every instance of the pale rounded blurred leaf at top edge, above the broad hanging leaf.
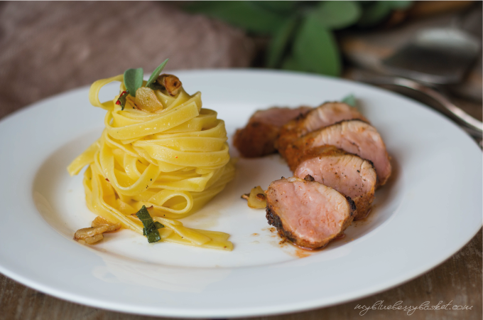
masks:
{"label": "pale rounded blurred leaf at top edge, above the broad hanging leaf", "polygon": [[327,0],[320,2],[313,13],[325,27],[341,29],[356,23],[362,11],[354,0]]}

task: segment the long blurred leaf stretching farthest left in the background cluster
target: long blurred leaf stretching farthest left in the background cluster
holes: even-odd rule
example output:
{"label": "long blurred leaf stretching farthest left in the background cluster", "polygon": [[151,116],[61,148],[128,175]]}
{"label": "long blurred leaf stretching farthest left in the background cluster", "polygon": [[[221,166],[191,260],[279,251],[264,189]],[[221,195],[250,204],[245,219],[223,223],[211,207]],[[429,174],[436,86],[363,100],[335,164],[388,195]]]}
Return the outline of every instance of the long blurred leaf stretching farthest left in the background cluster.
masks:
{"label": "long blurred leaf stretching farthest left in the background cluster", "polygon": [[246,31],[267,35],[276,33],[286,18],[286,15],[264,9],[250,0],[200,0],[188,6],[188,10],[219,18]]}

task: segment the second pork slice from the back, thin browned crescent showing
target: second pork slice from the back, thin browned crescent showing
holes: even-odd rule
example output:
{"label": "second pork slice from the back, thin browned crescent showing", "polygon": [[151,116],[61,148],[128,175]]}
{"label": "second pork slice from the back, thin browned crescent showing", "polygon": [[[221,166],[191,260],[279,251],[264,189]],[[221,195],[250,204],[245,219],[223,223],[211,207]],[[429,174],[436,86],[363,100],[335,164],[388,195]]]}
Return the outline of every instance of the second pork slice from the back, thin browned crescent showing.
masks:
{"label": "second pork slice from the back, thin browned crescent showing", "polygon": [[343,102],[325,102],[285,124],[280,130],[276,148],[285,157],[287,147],[298,138],[309,132],[350,119],[361,119],[369,123],[354,107]]}

